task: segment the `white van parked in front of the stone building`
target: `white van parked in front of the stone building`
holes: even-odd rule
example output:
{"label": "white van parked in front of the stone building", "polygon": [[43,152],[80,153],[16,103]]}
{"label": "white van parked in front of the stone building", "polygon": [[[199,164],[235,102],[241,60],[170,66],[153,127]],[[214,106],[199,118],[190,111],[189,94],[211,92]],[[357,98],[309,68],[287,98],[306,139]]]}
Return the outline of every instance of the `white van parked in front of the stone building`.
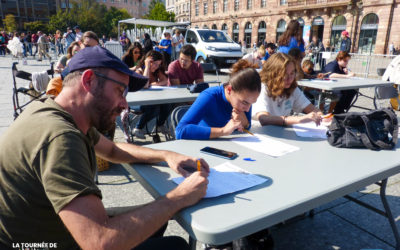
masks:
{"label": "white van parked in front of the stone building", "polygon": [[188,29],[185,44],[196,48],[197,62],[213,62],[217,68],[230,67],[243,56],[241,46],[221,30]]}

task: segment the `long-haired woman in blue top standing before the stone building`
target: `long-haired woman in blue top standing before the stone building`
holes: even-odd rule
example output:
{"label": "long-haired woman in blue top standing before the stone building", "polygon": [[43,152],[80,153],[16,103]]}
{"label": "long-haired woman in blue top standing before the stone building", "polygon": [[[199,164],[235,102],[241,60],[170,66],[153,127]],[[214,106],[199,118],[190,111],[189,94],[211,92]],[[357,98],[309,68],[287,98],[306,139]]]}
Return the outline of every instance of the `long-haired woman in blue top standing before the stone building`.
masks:
{"label": "long-haired woman in blue top standing before the stone building", "polygon": [[278,40],[279,52],[288,54],[292,48],[298,48],[305,56],[303,34],[301,32],[300,23],[297,20],[291,20],[286,31]]}

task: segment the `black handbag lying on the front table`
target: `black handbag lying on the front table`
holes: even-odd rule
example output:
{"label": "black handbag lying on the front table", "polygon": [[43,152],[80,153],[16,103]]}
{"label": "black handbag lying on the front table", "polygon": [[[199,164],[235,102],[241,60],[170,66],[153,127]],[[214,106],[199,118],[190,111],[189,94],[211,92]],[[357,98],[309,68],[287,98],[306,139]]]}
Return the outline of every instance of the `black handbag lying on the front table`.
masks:
{"label": "black handbag lying on the front table", "polygon": [[335,115],[328,127],[328,142],[338,148],[393,149],[398,121],[392,109],[349,112]]}

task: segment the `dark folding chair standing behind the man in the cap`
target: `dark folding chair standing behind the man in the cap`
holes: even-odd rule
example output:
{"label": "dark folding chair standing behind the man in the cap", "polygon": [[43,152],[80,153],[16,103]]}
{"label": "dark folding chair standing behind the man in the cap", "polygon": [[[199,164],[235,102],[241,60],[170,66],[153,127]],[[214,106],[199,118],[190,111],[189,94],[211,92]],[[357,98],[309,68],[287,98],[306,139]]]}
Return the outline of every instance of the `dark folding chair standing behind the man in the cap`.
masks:
{"label": "dark folding chair standing behind the man in the cap", "polygon": [[[17,64],[18,62],[13,62],[11,71],[12,71],[12,76],[13,76],[13,106],[14,106],[14,120],[21,114],[22,110],[27,106],[29,103],[32,101],[38,99],[42,95],[45,94],[45,92],[38,93],[32,86],[32,83],[29,84],[28,87],[18,87],[17,86],[17,78],[23,79],[26,81],[32,81],[32,74],[28,73],[26,71],[18,70],[17,69]],[[54,76],[54,62],[51,63],[50,69],[47,70],[47,74],[51,75],[52,77]],[[23,94],[24,96],[27,96],[30,98],[29,101],[25,102],[24,104],[20,104],[20,94]]]}

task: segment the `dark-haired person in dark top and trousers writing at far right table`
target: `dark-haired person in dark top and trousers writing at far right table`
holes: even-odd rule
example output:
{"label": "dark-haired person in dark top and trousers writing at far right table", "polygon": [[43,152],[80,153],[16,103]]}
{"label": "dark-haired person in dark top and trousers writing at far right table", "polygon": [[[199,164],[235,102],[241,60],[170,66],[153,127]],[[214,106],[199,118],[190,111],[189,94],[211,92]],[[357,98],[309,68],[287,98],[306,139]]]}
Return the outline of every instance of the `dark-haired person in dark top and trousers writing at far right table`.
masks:
{"label": "dark-haired person in dark top and trousers writing at far right table", "polygon": [[[349,63],[351,55],[348,52],[340,51],[336,59],[332,62],[328,63],[325,68],[322,70],[329,78],[350,78],[355,74],[350,72],[347,68],[347,64]],[[334,91],[333,93],[339,97],[339,101],[334,103],[331,108],[333,109],[333,114],[341,114],[345,113],[349,110],[351,102],[355,95],[357,95],[357,90],[349,89],[349,90],[340,90]]]}

